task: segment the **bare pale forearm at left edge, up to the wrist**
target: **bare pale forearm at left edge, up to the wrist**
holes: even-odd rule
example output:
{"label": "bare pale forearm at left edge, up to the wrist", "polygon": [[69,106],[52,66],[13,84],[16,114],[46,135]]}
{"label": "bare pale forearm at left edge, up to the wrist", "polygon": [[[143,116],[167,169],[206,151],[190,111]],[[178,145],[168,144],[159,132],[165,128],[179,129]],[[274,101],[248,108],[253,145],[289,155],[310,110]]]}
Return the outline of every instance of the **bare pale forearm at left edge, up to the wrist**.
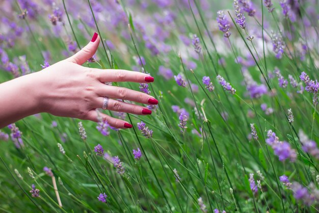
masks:
{"label": "bare pale forearm at left edge, up to the wrist", "polygon": [[0,128],[40,112],[37,73],[0,84]]}

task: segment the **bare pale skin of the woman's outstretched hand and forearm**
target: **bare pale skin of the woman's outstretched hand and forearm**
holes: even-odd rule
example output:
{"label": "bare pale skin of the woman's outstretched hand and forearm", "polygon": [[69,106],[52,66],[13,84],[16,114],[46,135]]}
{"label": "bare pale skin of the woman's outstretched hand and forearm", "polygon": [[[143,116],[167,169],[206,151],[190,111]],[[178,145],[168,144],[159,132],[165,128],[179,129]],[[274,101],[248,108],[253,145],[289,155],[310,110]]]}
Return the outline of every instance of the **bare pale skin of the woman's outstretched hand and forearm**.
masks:
{"label": "bare pale skin of the woman's outstretched hand and forearm", "polygon": [[141,72],[81,66],[98,48],[100,38],[93,38],[68,59],[0,84],[0,128],[37,113],[95,122],[101,118],[113,127],[131,128],[126,121],[106,115],[103,111],[96,112],[96,109],[102,108],[104,96],[110,97],[107,110],[150,114],[146,107],[122,100],[157,104],[154,97],[123,87],[105,85],[104,82],[149,83],[153,81],[152,77]]}

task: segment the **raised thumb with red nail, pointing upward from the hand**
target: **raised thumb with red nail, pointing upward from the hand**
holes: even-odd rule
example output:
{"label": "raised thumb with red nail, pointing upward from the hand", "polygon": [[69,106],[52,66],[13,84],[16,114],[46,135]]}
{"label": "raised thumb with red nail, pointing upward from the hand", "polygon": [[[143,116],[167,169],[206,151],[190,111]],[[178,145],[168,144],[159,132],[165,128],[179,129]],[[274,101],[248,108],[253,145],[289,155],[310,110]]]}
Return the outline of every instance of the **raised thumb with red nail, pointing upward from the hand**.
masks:
{"label": "raised thumb with red nail, pointing upward from the hand", "polygon": [[99,43],[100,37],[97,35],[97,33],[94,33],[91,41],[81,50],[76,52],[76,54],[68,58],[68,61],[71,61],[78,65],[84,64],[95,54]]}

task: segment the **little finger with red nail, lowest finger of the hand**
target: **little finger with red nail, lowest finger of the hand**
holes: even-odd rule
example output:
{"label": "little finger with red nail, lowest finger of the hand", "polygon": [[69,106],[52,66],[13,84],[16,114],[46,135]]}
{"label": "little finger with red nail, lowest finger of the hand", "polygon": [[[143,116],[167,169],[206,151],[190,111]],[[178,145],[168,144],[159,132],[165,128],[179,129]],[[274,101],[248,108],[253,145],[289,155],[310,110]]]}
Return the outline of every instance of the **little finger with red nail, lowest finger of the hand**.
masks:
{"label": "little finger with red nail, lowest finger of the hand", "polygon": [[97,113],[95,110],[88,112],[86,119],[94,122],[99,122],[98,117],[101,117],[103,121],[107,121],[110,126],[115,128],[132,128],[132,125],[126,121],[112,118],[111,116],[105,115],[103,113]]}

